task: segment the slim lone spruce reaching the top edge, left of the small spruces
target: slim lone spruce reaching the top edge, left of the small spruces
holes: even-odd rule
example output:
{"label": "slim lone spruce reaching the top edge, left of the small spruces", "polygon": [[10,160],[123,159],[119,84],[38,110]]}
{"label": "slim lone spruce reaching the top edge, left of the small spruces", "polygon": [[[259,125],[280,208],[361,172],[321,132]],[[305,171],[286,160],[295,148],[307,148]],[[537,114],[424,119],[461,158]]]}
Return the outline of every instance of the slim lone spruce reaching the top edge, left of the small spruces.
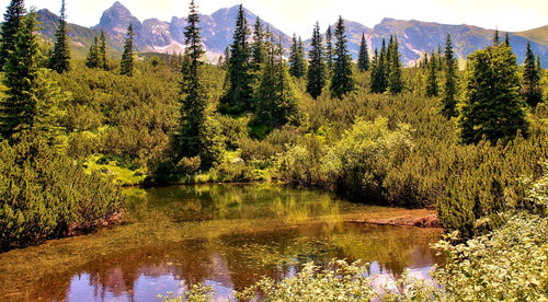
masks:
{"label": "slim lone spruce reaching the top edge, left of the small spruces", "polygon": [[62,0],[59,15],[59,27],[55,33],[54,53],[49,61],[49,68],[58,73],[70,70],[70,45],[67,31],[67,15],[65,14],[65,0]]}

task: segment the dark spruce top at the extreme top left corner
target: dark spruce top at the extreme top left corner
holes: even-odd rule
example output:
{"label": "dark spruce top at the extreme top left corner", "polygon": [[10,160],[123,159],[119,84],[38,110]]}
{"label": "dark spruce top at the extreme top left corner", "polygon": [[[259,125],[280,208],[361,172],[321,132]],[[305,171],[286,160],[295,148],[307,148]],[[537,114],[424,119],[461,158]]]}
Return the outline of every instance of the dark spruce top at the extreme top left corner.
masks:
{"label": "dark spruce top at the extreme top left corner", "polygon": [[8,60],[10,51],[15,49],[15,35],[21,30],[21,22],[25,13],[24,0],[11,0],[3,15],[2,37],[0,38],[0,70]]}

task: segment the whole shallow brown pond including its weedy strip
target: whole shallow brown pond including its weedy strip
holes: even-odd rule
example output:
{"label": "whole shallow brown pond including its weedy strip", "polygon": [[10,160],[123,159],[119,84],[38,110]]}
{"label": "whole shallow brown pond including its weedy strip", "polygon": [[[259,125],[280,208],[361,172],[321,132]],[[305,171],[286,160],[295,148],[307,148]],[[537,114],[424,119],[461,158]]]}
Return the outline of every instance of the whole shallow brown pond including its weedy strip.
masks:
{"label": "whole shallow brown pond including its weedy strip", "polygon": [[427,278],[439,230],[344,223],[402,209],[274,185],[128,189],[126,225],[0,255],[0,300],[158,301],[203,282],[215,300],[262,276],[282,279],[332,258],[369,274]]}

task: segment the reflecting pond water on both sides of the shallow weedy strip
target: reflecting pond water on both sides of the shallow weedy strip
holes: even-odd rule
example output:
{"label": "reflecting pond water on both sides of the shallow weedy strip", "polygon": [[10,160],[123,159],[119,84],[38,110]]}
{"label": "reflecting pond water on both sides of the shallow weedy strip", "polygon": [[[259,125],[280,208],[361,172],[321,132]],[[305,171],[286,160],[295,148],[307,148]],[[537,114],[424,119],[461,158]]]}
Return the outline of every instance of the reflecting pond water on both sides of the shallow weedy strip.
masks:
{"label": "reflecting pond water on both sides of the shallow weedy strip", "polygon": [[[390,278],[398,278],[406,268],[425,274],[439,262],[429,247],[438,240],[438,232],[344,223],[338,219],[342,213],[366,208],[328,194],[270,185],[133,190],[129,208],[136,225],[168,219],[169,228],[178,230],[190,221],[202,221],[207,228],[208,221],[222,220],[227,232],[209,239],[136,244],[92,258],[70,271],[41,278],[33,299],[158,301],[158,294],[182,293],[203,282],[215,288],[215,301],[226,301],[233,289],[242,290],[262,276],[290,277],[308,262],[362,259],[372,264],[369,274]],[[326,216],[332,219],[313,222]],[[284,223],[244,234],[228,231],[243,220],[261,219]],[[136,241],[150,240],[139,235]]]}

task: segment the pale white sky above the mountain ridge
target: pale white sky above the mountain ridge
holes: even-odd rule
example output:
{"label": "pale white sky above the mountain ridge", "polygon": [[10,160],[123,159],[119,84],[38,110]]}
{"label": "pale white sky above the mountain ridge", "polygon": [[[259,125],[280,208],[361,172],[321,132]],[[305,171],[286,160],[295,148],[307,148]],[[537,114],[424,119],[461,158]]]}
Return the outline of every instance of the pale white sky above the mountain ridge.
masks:
{"label": "pale white sky above the mountain ridge", "polygon": [[[115,0],[66,0],[70,23],[92,26]],[[548,25],[547,0],[195,0],[199,12],[242,3],[286,34],[309,36],[316,21],[326,28],[339,15],[368,27],[383,18],[420,20],[444,24],[470,24],[520,32]],[[10,0],[0,0],[5,8]],[[60,0],[26,0],[26,7],[57,13]],[[187,13],[189,0],[119,0],[140,21],[157,18],[171,21]]]}

